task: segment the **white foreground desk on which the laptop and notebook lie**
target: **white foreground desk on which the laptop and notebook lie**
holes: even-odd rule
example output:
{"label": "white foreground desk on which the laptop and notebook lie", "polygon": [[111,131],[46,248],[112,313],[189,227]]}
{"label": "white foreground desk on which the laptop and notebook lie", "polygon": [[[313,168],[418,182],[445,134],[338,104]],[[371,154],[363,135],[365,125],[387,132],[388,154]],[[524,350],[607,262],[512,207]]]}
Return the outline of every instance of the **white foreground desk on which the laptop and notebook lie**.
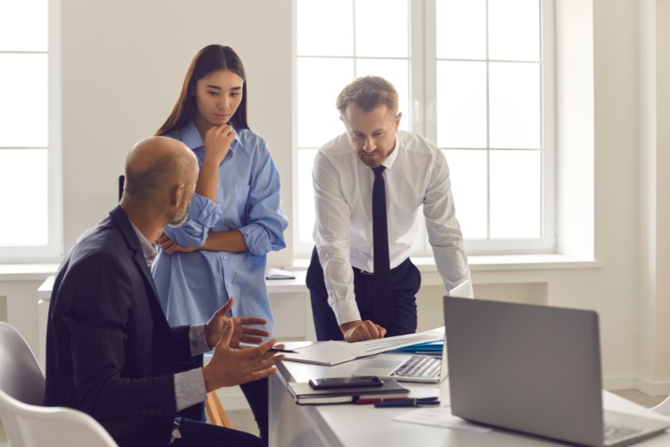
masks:
{"label": "white foreground desk on which the laptop and notebook lie", "polygon": [[[524,447],[561,445],[537,437],[494,430],[488,434],[453,430],[434,426],[419,426],[391,420],[412,409],[375,409],[372,405],[297,405],[286,389],[287,381],[306,382],[312,377],[350,375],[365,359],[335,367],[319,367],[296,362],[282,362],[279,372],[270,378],[270,439],[272,446],[337,446],[409,447],[431,445],[477,447]],[[403,383],[413,397],[440,395],[442,404],[448,402],[448,381],[441,386]],[[604,406],[624,413],[649,414],[648,409],[623,398],[603,392]],[[668,446],[670,433],[662,434],[641,447]]]}

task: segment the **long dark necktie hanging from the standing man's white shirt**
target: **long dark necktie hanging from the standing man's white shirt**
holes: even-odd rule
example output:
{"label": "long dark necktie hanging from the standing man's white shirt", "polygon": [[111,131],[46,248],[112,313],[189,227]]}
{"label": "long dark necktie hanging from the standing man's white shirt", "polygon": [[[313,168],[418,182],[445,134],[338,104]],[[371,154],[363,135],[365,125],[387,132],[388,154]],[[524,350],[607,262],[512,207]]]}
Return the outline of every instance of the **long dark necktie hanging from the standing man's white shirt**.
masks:
{"label": "long dark necktie hanging from the standing man's white shirt", "polygon": [[373,168],[373,261],[375,323],[386,325],[393,317],[390,291],[389,227],[386,220],[384,166]]}

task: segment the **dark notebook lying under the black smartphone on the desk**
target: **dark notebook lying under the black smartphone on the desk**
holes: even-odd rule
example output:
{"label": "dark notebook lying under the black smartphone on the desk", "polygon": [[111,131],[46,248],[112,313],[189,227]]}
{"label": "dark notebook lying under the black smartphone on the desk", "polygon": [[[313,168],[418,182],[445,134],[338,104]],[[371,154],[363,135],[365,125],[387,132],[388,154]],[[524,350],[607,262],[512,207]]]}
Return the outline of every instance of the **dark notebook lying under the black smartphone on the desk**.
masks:
{"label": "dark notebook lying under the black smartphone on the desk", "polygon": [[358,399],[384,399],[402,396],[409,392],[393,379],[385,379],[381,386],[356,386],[355,388],[324,388],[314,390],[307,382],[290,382],[289,392],[300,405],[317,403],[348,403]]}

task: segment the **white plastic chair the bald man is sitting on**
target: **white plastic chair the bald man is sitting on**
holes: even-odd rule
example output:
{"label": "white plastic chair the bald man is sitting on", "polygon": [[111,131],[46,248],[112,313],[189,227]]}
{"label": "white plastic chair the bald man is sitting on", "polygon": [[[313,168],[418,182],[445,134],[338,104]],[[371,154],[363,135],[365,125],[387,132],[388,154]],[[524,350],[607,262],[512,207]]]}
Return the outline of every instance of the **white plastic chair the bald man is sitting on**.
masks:
{"label": "white plastic chair the bald man is sitting on", "polygon": [[0,322],[0,417],[11,447],[117,447],[96,419],[42,407],[45,378],[21,334]]}

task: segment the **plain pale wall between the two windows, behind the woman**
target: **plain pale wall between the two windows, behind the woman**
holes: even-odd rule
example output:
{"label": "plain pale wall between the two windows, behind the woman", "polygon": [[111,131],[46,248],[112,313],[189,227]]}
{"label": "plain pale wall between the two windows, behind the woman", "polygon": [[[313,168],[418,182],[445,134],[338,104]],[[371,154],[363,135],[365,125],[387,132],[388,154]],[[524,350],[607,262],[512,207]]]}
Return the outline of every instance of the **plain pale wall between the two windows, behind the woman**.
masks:
{"label": "plain pale wall between the two windows, behind the woman", "polygon": [[[289,0],[62,0],[62,17],[66,248],[116,204],[126,154],[167,118],[188,63],[209,44],[233,47],[245,63],[249,124],[289,183]],[[290,215],[290,199],[283,207]],[[289,258],[284,250],[271,262]]]}

